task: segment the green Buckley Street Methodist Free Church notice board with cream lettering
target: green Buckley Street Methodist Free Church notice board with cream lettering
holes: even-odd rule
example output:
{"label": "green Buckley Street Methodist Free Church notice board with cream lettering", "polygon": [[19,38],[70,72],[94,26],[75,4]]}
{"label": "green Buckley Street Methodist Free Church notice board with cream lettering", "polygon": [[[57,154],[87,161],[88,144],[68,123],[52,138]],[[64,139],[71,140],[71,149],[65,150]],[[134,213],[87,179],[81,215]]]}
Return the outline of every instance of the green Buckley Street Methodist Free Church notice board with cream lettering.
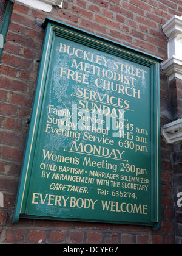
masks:
{"label": "green Buckley Street Methodist Free Church notice board with cream lettering", "polygon": [[13,222],[160,226],[161,59],[47,18]]}

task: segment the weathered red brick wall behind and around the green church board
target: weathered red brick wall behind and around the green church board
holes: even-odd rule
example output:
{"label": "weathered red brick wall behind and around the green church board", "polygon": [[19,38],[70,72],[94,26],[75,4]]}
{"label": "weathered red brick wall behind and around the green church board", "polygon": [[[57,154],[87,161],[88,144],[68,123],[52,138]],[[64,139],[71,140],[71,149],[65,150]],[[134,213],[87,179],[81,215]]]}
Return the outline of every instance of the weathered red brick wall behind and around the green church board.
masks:
{"label": "weathered red brick wall behind and around the green church board", "polygon": [[[0,207],[0,243],[175,243],[172,174],[177,169],[173,168],[173,148],[163,140],[160,230],[30,219],[12,224],[12,216],[44,38],[44,29],[36,20],[44,21],[50,16],[166,60],[167,41],[161,26],[172,16],[181,16],[181,6],[181,0],[64,0],[62,9],[53,7],[48,14],[22,4],[13,5],[0,66],[0,191],[4,194],[4,207]],[[161,124],[166,124],[171,119],[173,105],[181,104],[181,99],[174,103],[174,95],[181,97],[181,91],[175,90],[176,84],[169,83],[162,71],[160,86]]]}

